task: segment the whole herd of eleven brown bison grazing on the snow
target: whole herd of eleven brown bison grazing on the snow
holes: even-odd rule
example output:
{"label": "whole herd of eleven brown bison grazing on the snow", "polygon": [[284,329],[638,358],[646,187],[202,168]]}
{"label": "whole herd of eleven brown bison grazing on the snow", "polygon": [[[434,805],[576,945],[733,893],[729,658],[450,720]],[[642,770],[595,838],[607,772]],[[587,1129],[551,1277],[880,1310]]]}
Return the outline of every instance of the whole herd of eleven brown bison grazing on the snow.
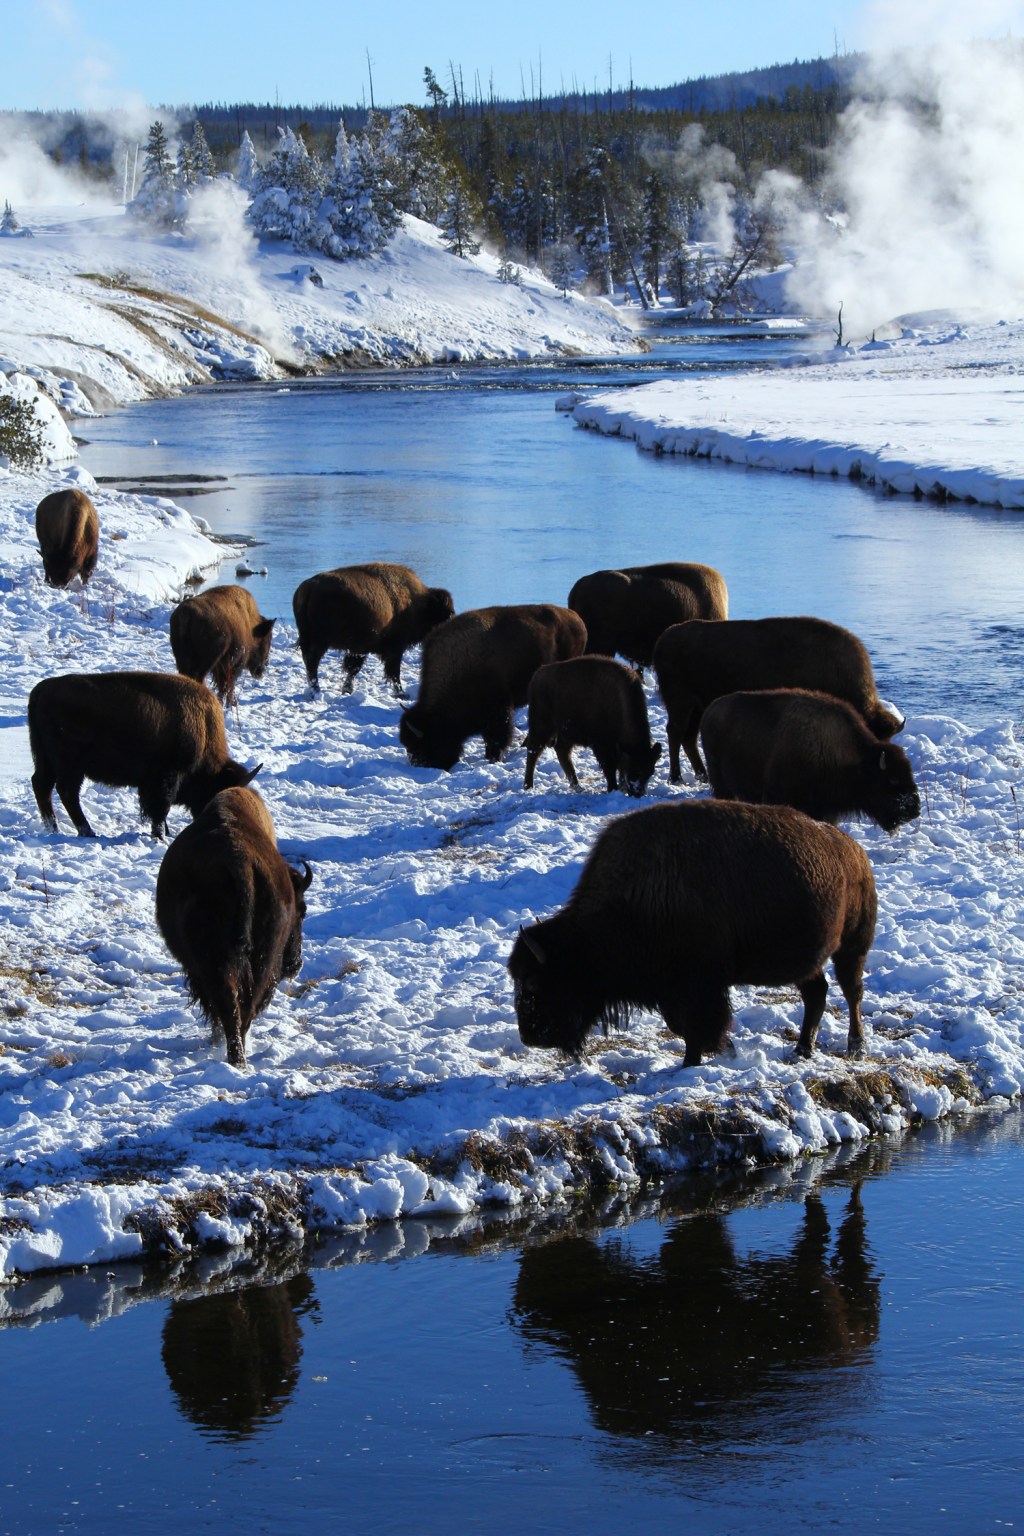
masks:
{"label": "whole herd of eleven brown bison grazing on the snow", "polygon": [[[46,496],[37,531],[48,582],[89,579],[98,521],[88,496]],[[525,790],[548,746],[579,790],[573,751],[585,746],[609,791],[642,796],[662,753],[643,691],[652,667],[669,779],[680,779],[682,748],[714,799],[616,817],[565,908],[520,928],[508,971],[524,1044],[579,1057],[591,1029],[646,1008],[695,1066],[725,1044],[731,986],[792,985],[803,998],[797,1049],[809,1057],[831,958],[849,1052],[863,1051],[875,883],[860,845],[834,823],[860,814],[894,833],[921,803],[890,742],[904,722],[878,699],[857,636],[815,617],[729,619],[720,573],[683,562],[594,571],[567,607],[464,613],[408,567],[372,562],[310,576],[293,611],[313,691],[324,656],[339,651],[344,693],[378,656],[401,697],[402,657],[422,645],[418,697],[398,725],[413,765],[451,770],[474,736],[488,762],[500,760],[514,711],[528,705]],[[48,677],[28,705],[32,791],[48,828],[57,790],[78,833],[92,836],[84,779],[138,790],[154,837],[172,805],[192,813],[160,868],[157,920],[239,1068],[252,1020],[299,968],[313,879],[309,865],[299,872],[282,859],[270,813],[247,788],[259,770],[233,762],[224,734],[221,703],[235,700],[244,671],[263,676],[273,624],[244,588],[213,587],[170,614],[177,673]]]}

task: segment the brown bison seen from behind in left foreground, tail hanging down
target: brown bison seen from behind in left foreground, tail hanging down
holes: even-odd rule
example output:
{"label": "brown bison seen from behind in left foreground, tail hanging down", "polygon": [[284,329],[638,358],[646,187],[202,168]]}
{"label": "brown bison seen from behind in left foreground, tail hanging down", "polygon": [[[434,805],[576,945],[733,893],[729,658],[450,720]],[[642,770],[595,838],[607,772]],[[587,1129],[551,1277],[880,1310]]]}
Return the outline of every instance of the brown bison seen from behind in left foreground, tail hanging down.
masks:
{"label": "brown bison seen from behind in left foreground, tail hanging down", "polygon": [[232,1066],[246,1066],[249,1026],[302,963],[312,879],[284,862],[270,813],[244,788],[215,794],[160,865],[160,932]]}

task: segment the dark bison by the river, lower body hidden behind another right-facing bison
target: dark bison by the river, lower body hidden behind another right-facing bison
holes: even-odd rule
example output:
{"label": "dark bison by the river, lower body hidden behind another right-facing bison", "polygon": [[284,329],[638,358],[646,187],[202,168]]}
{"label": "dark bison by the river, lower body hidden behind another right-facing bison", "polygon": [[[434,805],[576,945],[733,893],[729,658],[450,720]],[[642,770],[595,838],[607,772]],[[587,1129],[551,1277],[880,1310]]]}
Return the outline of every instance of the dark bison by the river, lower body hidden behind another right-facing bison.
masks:
{"label": "dark bison by the river, lower body hidden behind another right-facing bison", "polygon": [[881,740],[906,725],[878,697],[861,642],[827,619],[674,624],[654,647],[654,671],[668,711],[672,783],[679,780],[680,745],[697,777],[706,777],[697,731],[703,711],[723,693],[811,688],[846,699]]}

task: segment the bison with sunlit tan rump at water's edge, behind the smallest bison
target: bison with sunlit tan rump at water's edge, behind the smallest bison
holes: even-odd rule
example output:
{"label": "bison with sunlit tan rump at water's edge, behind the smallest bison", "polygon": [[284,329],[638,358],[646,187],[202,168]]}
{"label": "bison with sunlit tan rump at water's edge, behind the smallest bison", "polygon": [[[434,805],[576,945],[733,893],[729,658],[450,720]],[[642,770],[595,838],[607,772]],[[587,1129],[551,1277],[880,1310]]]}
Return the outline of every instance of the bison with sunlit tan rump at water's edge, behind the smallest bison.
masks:
{"label": "bison with sunlit tan rump at water's edge, behind the smallest bison", "polygon": [[643,671],[671,624],[728,619],[729,593],[714,567],[666,561],[580,576],[570,608],[586,625],[588,653],[625,656]]}

